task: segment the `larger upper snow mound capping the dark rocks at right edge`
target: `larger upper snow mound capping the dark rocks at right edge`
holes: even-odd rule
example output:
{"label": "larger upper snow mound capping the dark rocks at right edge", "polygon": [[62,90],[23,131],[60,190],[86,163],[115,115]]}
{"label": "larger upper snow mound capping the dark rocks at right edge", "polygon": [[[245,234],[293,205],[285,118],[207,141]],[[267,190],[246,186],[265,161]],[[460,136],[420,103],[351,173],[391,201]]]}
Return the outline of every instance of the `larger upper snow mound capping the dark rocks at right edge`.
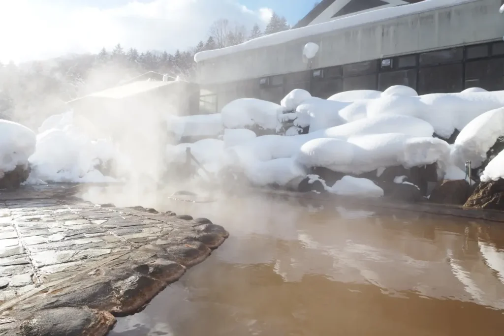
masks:
{"label": "larger upper snow mound capping the dark rocks at right edge", "polygon": [[453,163],[465,169],[466,160],[478,168],[497,139],[504,136],[504,107],[485,112],[471,120],[459,133],[452,150]]}

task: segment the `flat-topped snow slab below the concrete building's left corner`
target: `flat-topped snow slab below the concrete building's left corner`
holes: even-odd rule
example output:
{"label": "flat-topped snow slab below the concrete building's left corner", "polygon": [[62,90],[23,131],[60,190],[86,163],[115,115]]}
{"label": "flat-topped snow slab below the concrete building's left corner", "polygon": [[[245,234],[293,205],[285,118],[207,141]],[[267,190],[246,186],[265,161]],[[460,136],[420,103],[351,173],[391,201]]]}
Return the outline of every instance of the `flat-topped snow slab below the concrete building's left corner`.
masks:
{"label": "flat-topped snow slab below the concrete building's left corner", "polygon": [[165,119],[168,131],[174,133],[177,141],[182,137],[215,137],[224,129],[220,113],[182,117],[166,115]]}

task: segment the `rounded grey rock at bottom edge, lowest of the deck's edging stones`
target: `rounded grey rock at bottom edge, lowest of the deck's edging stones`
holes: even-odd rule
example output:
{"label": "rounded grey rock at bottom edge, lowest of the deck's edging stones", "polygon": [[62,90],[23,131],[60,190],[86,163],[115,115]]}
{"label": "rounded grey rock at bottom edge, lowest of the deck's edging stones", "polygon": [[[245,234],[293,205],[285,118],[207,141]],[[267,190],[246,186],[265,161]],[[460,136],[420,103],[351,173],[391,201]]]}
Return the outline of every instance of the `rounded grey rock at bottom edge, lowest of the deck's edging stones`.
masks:
{"label": "rounded grey rock at bottom edge, lowest of the deck's edging stones", "polygon": [[61,307],[36,312],[20,329],[23,336],[102,336],[114,323],[115,318],[108,312]]}

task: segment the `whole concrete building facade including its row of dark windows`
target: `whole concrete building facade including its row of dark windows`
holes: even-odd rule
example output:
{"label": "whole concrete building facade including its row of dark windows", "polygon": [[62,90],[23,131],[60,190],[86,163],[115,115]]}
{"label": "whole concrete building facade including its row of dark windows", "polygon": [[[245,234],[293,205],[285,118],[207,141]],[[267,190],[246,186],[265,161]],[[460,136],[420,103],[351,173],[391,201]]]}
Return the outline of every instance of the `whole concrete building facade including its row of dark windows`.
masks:
{"label": "whole concrete building facade including its row of dark windows", "polygon": [[[419,94],[504,90],[502,3],[418,2],[203,52],[196,59],[204,110],[216,112],[245,97],[278,103],[296,88],[321,98],[391,85]],[[310,61],[302,57],[307,42],[320,46]]]}

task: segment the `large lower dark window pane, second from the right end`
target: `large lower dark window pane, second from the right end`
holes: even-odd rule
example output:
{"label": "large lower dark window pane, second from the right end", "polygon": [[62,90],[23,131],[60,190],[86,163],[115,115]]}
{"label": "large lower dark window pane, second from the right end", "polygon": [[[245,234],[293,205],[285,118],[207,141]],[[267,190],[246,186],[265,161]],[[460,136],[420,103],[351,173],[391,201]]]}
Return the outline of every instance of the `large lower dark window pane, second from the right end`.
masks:
{"label": "large lower dark window pane, second from the right end", "polygon": [[418,94],[460,92],[462,63],[431,66],[418,72]]}

